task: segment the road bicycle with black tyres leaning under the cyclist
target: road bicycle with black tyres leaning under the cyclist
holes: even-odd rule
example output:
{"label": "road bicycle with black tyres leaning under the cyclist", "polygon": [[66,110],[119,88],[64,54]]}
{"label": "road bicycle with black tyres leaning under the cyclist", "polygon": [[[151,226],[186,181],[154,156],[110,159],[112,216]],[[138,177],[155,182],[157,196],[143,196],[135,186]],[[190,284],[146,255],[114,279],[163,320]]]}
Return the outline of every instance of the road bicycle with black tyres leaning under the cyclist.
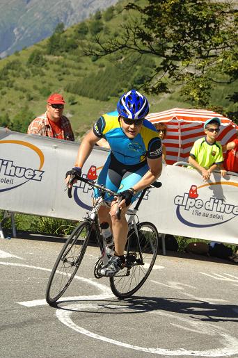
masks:
{"label": "road bicycle with black tyres leaning under the cyclist", "polygon": [[[72,279],[84,258],[90,235],[93,232],[95,232],[97,245],[100,247],[100,257],[97,259],[94,267],[94,275],[97,279],[102,277],[99,271],[100,268],[105,266],[110,259],[109,250],[107,250],[106,247],[106,240],[103,238],[100,229],[97,211],[104,201],[103,197],[105,193],[118,196],[119,202],[121,197],[118,193],[115,193],[100,184],[96,184],[87,178],[81,177],[79,180],[84,181],[93,188],[99,189],[102,196],[95,200],[93,209],[86,213],[84,221],[79,222],[65,242],[65,245],[63,245],[61,252],[58,254],[58,258],[56,259],[56,263],[54,264],[47,284],[46,300],[49,304],[54,304],[61,298],[72,282]],[[159,188],[160,186],[161,183],[155,181],[148,188]],[[125,246],[124,268],[122,268],[122,270],[115,276],[109,277],[111,291],[120,299],[128,298],[141,288],[150,275],[157,257],[159,241],[157,228],[152,222],[139,222],[138,216],[136,215],[138,207],[148,188],[145,188],[142,191],[134,209],[128,209],[127,211],[127,215],[129,215],[129,231],[127,244]],[[69,197],[72,197],[70,190],[68,190],[68,195]],[[117,215],[118,218],[120,218],[119,210]],[[113,252],[111,252],[111,254],[113,254]]]}

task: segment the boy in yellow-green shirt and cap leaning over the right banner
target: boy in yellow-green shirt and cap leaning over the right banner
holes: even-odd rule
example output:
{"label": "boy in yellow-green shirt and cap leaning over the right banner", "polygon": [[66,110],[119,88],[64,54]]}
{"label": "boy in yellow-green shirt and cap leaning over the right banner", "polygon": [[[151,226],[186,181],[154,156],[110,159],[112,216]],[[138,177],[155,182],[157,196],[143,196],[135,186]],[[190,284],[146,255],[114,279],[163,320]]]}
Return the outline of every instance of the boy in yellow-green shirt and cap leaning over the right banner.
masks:
{"label": "boy in yellow-green shirt and cap leaning over the right banner", "polygon": [[216,142],[220,125],[221,120],[218,117],[207,120],[204,124],[205,138],[193,143],[189,155],[189,163],[201,172],[204,180],[208,180],[211,173],[223,163],[221,143]]}

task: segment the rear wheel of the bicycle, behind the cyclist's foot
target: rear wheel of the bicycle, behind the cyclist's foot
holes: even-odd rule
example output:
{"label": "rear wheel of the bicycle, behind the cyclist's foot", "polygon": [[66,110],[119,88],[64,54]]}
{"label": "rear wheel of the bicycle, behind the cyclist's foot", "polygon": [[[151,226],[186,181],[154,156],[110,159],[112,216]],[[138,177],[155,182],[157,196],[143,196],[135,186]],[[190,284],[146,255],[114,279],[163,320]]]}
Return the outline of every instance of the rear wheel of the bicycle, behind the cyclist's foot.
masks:
{"label": "rear wheel of the bicycle, behind the cyclist's foot", "polygon": [[141,222],[129,231],[125,268],[110,278],[111,291],[118,298],[133,295],[150,275],[157,257],[159,234],[151,222]]}

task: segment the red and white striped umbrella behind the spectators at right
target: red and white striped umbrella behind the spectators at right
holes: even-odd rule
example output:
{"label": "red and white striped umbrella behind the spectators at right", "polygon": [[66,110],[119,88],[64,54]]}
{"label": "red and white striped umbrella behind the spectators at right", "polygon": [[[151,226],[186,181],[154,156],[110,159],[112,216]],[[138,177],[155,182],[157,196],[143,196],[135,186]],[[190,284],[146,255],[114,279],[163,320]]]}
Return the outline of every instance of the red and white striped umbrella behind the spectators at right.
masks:
{"label": "red and white striped umbrella behind the spectators at right", "polygon": [[146,119],[152,123],[163,122],[167,125],[166,138],[163,140],[166,146],[166,163],[173,164],[177,161],[187,161],[195,140],[205,136],[204,123],[213,117],[219,117],[221,120],[221,130],[217,140],[222,145],[234,140],[238,130],[237,124],[219,113],[205,109],[173,108],[150,113]]}

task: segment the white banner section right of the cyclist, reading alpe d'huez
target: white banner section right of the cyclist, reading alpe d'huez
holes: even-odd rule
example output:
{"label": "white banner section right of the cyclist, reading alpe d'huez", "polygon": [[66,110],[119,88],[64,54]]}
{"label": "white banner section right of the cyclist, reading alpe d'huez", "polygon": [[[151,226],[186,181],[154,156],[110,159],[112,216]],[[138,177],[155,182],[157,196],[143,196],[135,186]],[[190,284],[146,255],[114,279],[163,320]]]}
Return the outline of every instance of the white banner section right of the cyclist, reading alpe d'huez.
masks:
{"label": "white banner section right of the cyclist, reading alpe d'huez", "polygon": [[161,188],[150,189],[143,204],[143,220],[165,234],[238,244],[237,176],[214,173],[204,182],[195,169],[167,165],[159,180]]}

